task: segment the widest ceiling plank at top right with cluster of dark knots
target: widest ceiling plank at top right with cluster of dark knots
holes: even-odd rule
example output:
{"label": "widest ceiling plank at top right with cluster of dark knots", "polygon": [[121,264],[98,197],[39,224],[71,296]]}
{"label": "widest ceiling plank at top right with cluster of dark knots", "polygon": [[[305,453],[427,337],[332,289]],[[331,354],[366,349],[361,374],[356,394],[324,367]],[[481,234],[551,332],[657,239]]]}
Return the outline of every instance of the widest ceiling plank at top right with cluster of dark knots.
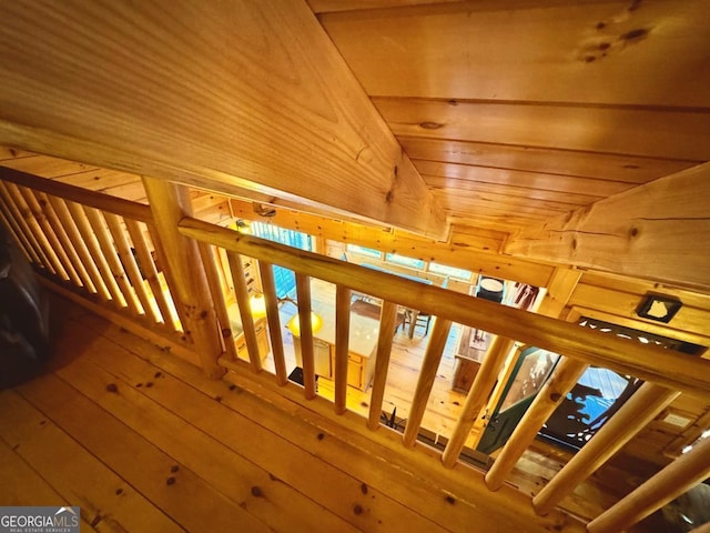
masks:
{"label": "widest ceiling plank at top right with cluster of dark knots", "polygon": [[710,103],[709,72],[697,69],[708,60],[708,13],[692,0],[642,9],[618,0],[457,2],[321,20],[371,95]]}

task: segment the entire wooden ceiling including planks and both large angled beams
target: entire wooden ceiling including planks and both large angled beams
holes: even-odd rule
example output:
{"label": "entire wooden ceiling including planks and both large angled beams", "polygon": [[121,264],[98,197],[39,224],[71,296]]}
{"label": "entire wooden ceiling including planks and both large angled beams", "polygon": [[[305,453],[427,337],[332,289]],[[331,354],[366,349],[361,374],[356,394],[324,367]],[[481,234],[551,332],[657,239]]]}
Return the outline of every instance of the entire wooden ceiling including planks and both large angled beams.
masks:
{"label": "entire wooden ceiling including planks and both large angled beams", "polygon": [[0,30],[2,144],[710,288],[704,2],[37,9]]}

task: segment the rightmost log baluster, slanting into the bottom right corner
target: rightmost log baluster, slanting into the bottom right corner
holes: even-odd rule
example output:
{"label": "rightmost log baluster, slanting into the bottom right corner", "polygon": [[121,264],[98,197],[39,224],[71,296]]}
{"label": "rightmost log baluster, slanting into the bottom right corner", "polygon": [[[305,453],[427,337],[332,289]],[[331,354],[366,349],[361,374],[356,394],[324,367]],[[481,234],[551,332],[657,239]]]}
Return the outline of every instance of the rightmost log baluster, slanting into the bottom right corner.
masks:
{"label": "rightmost log baluster, slanting into the bottom right corner", "polygon": [[710,439],[670,463],[658,474],[587,524],[590,533],[626,531],[710,476]]}

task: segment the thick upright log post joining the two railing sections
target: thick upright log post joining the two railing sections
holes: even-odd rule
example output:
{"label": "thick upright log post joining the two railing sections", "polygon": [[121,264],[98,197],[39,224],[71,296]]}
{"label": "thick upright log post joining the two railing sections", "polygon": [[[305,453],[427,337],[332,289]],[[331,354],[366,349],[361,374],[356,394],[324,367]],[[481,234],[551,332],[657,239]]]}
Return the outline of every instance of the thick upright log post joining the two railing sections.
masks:
{"label": "thick upright log post joining the two railing sections", "polygon": [[190,217],[192,211],[187,189],[148,177],[143,177],[143,185],[153,212],[155,232],[174,278],[171,291],[187,322],[183,325],[194,339],[204,372],[210,378],[221,378],[225,372],[217,364],[222,343],[200,250],[196,241],[182,237],[178,231],[180,220]]}

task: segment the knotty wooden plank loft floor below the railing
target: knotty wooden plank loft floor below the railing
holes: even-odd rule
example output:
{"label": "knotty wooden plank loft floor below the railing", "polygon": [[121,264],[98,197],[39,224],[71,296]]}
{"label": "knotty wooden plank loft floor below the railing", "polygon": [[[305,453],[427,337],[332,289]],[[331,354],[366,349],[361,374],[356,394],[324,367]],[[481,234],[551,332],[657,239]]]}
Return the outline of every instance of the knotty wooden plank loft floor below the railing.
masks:
{"label": "knotty wooden plank loft floor below the railing", "polygon": [[80,505],[98,532],[584,531],[465,465],[394,453],[385,428],[349,434],[64,301],[53,314],[53,366],[0,393],[4,505]]}

